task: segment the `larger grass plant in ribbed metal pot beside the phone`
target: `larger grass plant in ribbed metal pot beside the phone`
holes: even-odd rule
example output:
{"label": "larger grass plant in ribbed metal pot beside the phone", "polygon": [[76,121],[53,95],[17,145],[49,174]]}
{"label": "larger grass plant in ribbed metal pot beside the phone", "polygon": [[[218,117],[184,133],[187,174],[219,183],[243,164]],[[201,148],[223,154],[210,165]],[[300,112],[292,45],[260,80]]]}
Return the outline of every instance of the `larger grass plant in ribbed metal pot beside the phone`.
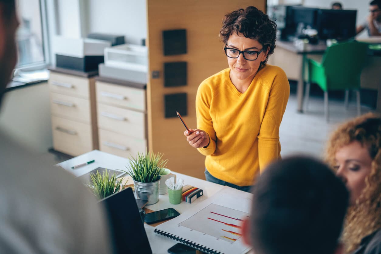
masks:
{"label": "larger grass plant in ribbed metal pot beside the phone", "polygon": [[162,159],[160,153],[139,153],[130,160],[127,168],[128,174],[134,181],[136,198],[148,200],[147,205],[159,201],[160,173],[168,160]]}

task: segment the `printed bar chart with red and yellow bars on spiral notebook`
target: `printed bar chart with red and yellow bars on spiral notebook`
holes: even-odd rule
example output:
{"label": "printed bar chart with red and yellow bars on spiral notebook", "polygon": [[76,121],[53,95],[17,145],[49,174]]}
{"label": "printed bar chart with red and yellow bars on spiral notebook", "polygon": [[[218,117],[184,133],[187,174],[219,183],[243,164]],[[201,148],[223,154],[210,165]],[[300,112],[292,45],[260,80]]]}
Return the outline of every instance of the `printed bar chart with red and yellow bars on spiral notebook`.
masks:
{"label": "printed bar chart with red and yellow bars on spiral notebook", "polygon": [[239,232],[242,219],[245,217],[250,217],[250,215],[217,204],[210,204],[179,225],[233,243],[242,236]]}

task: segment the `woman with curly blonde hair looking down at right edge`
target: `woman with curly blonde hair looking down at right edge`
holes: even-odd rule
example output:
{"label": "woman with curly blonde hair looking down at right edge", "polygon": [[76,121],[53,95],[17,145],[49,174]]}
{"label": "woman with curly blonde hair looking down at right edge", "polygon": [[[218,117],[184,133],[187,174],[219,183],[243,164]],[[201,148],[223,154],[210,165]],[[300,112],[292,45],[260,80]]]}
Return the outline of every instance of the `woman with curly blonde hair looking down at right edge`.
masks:
{"label": "woman with curly blonde hair looking down at right edge", "polygon": [[339,126],[327,161],[350,192],[344,225],[346,253],[381,253],[381,116],[368,113]]}

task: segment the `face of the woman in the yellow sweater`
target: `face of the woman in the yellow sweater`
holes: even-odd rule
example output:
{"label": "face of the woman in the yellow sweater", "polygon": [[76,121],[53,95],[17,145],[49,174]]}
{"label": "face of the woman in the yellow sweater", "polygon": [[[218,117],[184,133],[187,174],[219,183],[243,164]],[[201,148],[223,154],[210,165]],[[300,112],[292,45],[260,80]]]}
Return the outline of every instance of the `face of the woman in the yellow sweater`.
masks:
{"label": "face of the woman in the yellow sweater", "polygon": [[[233,33],[227,40],[227,48],[237,50],[261,51],[263,46],[257,40],[244,37],[243,34]],[[230,78],[235,81],[248,81],[251,83],[255,74],[258,72],[261,61],[266,59],[268,50],[264,49],[254,61],[248,61],[240,54],[238,58],[227,58],[230,67]]]}

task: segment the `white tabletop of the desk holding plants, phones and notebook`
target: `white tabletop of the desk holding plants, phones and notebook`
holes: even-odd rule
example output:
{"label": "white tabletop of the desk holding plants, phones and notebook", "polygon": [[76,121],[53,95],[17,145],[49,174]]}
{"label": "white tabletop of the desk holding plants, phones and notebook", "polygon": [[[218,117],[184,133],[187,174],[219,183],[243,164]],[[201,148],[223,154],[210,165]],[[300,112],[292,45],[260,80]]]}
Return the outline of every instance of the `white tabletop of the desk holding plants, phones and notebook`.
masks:
{"label": "white tabletop of the desk holding plants, phones and notebook", "polygon": [[[79,165],[81,163],[84,163],[86,161],[91,161],[91,160],[95,160],[95,162],[78,169],[71,169],[71,167],[74,165]],[[74,174],[75,176],[81,176],[98,167],[124,170],[125,166],[128,165],[128,161],[129,159],[127,158],[101,152],[99,150],[93,150],[83,155],[74,157],[70,160],[61,162],[57,164],[56,166],[61,166],[62,168],[69,171],[70,173]],[[212,182],[207,182],[205,180],[201,180],[195,177],[186,176],[184,174],[180,174],[176,172],[172,172],[172,173],[176,174],[177,178],[184,179],[184,184],[189,184],[189,185],[196,186],[202,189],[203,196],[201,196],[200,198],[197,198],[197,200],[195,200],[192,204],[186,203],[184,201],[181,201],[180,204],[171,204],[169,203],[168,193],[167,193],[165,195],[159,195],[158,203],[146,206],[146,208],[153,211],[158,211],[158,210],[173,207],[174,209],[176,209],[176,211],[180,212],[181,214],[182,212],[186,211],[189,207],[202,202],[203,200],[212,196],[213,194],[215,194],[216,192],[218,192],[224,187],[223,185],[214,184]],[[150,225],[144,224],[144,228],[146,229],[146,233],[148,236],[148,240],[149,240],[152,252],[155,254],[168,253],[167,252],[168,248],[178,243],[175,240],[164,238],[154,233],[155,228],[151,227]]]}

